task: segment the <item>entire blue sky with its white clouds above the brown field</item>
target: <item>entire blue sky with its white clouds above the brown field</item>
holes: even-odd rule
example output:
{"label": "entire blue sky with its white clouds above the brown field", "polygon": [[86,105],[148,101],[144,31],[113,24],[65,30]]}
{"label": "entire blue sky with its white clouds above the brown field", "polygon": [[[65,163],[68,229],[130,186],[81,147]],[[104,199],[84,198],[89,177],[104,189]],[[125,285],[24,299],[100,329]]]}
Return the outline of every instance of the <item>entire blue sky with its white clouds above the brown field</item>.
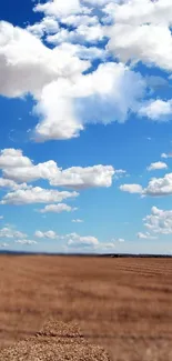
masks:
{"label": "entire blue sky with its white clouds above the brown field", "polygon": [[0,247],[171,253],[171,1],[0,13]]}

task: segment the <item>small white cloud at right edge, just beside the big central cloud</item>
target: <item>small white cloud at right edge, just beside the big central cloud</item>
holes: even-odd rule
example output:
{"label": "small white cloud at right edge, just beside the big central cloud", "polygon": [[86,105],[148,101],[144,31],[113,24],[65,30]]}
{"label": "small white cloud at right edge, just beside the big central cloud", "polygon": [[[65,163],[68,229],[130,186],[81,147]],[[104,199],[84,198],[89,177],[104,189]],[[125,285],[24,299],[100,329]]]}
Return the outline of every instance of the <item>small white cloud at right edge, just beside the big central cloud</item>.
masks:
{"label": "small white cloud at right edge, just beside the big central cloud", "polygon": [[152,120],[168,120],[166,117],[172,114],[172,100],[152,100],[140,108],[139,114]]}

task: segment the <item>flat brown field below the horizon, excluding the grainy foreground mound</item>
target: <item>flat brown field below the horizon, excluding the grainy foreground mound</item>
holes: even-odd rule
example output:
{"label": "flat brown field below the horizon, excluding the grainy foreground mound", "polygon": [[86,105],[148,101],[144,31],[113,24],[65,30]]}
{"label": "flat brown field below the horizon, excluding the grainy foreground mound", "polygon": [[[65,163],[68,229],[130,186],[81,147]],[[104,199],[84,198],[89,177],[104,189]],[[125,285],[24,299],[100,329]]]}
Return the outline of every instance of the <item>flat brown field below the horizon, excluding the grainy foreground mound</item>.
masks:
{"label": "flat brown field below the horizon, excluding the grainy foreground mound", "polygon": [[50,317],[114,361],[172,360],[172,259],[0,257],[0,349]]}

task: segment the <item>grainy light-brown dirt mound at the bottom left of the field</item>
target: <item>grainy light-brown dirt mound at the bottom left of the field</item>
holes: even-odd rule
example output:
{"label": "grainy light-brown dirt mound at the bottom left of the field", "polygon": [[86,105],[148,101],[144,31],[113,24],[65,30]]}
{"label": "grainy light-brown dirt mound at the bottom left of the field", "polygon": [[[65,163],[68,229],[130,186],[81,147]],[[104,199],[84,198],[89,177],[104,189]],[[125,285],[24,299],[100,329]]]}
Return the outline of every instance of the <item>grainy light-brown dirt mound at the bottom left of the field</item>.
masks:
{"label": "grainy light-brown dirt mound at the bottom left of the field", "polygon": [[0,352],[0,361],[110,361],[107,352],[89,344],[75,323],[51,320],[34,337]]}

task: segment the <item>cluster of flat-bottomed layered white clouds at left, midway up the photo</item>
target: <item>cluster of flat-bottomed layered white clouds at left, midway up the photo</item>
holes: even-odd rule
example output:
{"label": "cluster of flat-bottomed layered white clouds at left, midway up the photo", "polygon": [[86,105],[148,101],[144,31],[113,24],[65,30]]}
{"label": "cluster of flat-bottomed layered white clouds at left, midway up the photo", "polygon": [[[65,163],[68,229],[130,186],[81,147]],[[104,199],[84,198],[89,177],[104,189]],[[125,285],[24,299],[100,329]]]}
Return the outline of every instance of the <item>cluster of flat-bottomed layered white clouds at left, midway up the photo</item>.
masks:
{"label": "cluster of flat-bottomed layered white clouds at left, midway up the photo", "polygon": [[[59,191],[29,185],[28,182],[47,180],[52,187],[64,187],[73,190],[87,188],[111,187],[113,178],[125,176],[125,171],[112,166],[71,167],[59,168],[53,160],[34,164],[31,159],[23,156],[20,149],[3,149],[0,151],[0,188],[8,188],[10,191],[1,200],[1,204],[32,204],[50,203],[40,212],[74,211],[65,203],[65,199],[79,195],[77,191]],[[59,204],[54,204],[59,203]]]}

